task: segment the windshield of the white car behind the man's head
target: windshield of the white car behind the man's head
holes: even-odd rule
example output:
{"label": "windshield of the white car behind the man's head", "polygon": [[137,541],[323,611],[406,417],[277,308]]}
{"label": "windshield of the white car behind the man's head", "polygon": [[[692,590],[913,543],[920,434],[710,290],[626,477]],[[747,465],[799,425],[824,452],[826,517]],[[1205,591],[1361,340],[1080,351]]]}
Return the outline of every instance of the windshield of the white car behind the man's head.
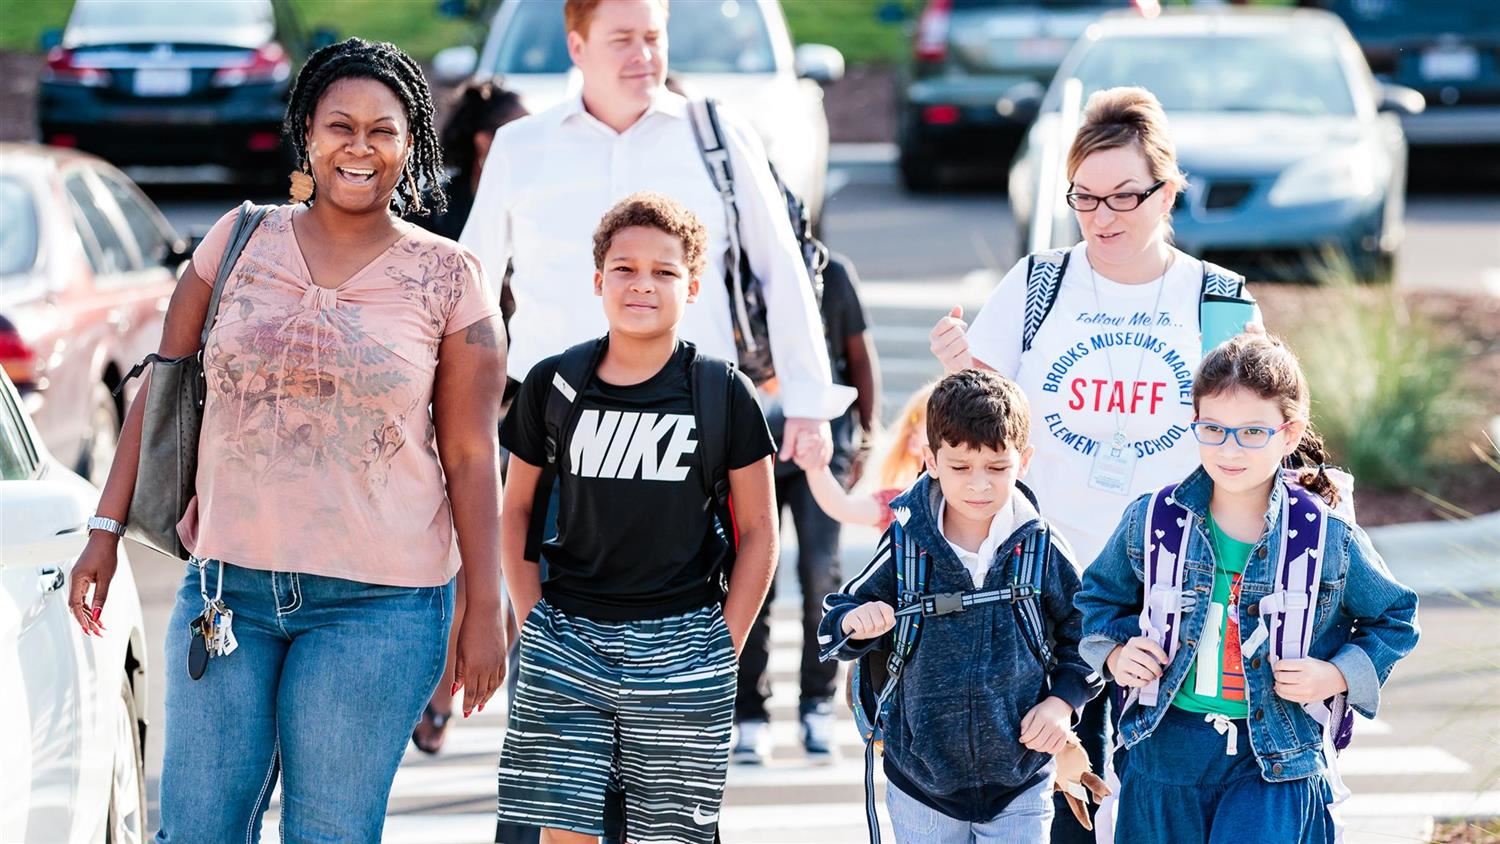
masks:
{"label": "windshield of the white car behind the man's head", "polygon": [[[666,34],[674,73],[770,73],[776,70],[771,36],[754,0],[674,3]],[[562,3],[520,0],[500,42],[494,72],[567,73]]]}

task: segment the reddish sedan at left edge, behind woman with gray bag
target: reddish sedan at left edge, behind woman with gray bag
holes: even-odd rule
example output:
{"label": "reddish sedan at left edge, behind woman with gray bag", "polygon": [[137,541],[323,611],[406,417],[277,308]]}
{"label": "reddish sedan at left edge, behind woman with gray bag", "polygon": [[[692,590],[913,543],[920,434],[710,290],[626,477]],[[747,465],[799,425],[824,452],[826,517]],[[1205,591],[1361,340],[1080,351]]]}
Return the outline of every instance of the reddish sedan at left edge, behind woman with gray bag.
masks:
{"label": "reddish sedan at left edge, behind woman with gray bag", "polygon": [[160,345],[186,256],[118,169],[84,153],[0,144],[0,367],[48,450],[94,483],[128,406],[111,390]]}

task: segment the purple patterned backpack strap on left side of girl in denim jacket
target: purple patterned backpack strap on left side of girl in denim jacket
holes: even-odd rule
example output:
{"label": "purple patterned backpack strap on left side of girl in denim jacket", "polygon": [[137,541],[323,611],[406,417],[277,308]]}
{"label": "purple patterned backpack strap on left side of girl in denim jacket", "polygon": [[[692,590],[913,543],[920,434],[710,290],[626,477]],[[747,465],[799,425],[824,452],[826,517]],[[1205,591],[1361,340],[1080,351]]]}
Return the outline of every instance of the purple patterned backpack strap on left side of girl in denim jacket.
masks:
{"label": "purple patterned backpack strap on left side of girl in denim jacket", "polygon": [[[1182,612],[1196,595],[1184,594],[1182,576],[1188,556],[1188,519],[1191,514],[1173,496],[1178,484],[1156,490],[1146,505],[1144,583],[1140,633],[1161,646],[1170,661],[1178,652]],[[1156,706],[1161,681],[1140,688],[1143,706]]]}

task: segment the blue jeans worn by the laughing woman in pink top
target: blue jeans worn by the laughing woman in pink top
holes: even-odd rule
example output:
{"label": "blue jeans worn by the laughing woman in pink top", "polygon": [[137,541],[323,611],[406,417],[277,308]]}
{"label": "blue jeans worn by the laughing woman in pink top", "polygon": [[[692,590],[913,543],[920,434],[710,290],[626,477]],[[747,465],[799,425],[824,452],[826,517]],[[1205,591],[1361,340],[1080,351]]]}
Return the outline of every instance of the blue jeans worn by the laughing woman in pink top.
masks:
{"label": "blue jeans worn by the laughing woman in pink top", "polygon": [[[207,567],[212,597],[219,579]],[[224,565],[238,649],[188,676],[198,565],[166,628],[158,844],[260,841],[282,780],[282,841],[380,841],[406,741],[442,673],[453,583],[396,588]]]}

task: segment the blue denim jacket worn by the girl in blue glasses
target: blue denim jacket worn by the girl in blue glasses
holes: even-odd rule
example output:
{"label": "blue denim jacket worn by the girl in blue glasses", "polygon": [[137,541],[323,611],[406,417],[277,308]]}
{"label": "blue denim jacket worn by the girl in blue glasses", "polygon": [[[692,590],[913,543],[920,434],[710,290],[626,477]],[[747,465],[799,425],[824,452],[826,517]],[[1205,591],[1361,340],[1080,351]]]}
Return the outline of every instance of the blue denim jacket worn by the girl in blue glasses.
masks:
{"label": "blue denim jacket worn by the girl in blue glasses", "polygon": [[[1161,723],[1173,696],[1182,687],[1192,664],[1203,612],[1214,592],[1214,544],[1209,541],[1208,513],[1214,480],[1203,468],[1188,475],[1173,493],[1178,504],[1192,514],[1188,535],[1188,559],[1184,589],[1200,595],[1197,607],[1184,610],[1178,652],[1161,678],[1161,700],[1156,706],[1131,706],[1119,724],[1125,747],[1134,747],[1150,736]],[[1266,510],[1266,532],[1250,553],[1240,582],[1239,613],[1254,619],[1258,601],[1272,591],[1280,547],[1282,484],[1274,484]],[[1077,606],[1083,610],[1083,642],[1080,652],[1100,673],[1107,676],[1104,661],[1116,645],[1140,636],[1140,609],[1146,505],[1150,495],[1136,499],[1108,544],[1083,573],[1083,591]],[[1240,640],[1256,631],[1254,624],[1240,627]],[[1390,676],[1396,660],[1416,648],[1416,594],[1398,583],[1384,561],[1370,544],[1359,526],[1341,516],[1328,514],[1323,543],[1323,570],[1314,616],[1312,648],[1308,657],[1324,660],[1344,673],[1348,684],[1348,705],[1374,717],[1380,706],[1380,687]],[[1245,694],[1250,703],[1250,739],[1260,762],[1260,774],[1268,781],[1300,780],[1322,771],[1322,732],[1302,705],[1282,700],[1274,691],[1268,648],[1245,658]]]}

